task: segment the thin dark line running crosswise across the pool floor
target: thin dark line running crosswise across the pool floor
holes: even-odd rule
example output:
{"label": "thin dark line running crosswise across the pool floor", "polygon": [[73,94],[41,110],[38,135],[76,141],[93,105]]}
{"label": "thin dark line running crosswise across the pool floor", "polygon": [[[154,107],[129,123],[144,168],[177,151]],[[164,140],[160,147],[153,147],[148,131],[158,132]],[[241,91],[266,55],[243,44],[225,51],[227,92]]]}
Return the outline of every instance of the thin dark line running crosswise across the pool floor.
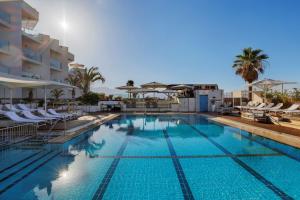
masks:
{"label": "thin dark line running crosswise across the pool floor", "polygon": [[283,156],[279,153],[271,153],[271,154],[220,154],[220,155],[188,155],[188,156],[93,156],[92,158],[120,158],[120,159],[165,159],[165,158],[228,158],[228,157],[266,157],[266,156]]}

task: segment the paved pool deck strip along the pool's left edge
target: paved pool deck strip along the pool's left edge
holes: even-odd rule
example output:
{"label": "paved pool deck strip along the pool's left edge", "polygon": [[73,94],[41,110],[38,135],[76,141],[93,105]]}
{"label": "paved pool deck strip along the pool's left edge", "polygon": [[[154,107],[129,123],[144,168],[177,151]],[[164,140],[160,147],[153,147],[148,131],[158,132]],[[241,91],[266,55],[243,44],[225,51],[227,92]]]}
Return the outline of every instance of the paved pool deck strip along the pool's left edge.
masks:
{"label": "paved pool deck strip along the pool's left edge", "polygon": [[87,131],[89,129],[92,129],[96,126],[99,126],[101,124],[104,124],[105,122],[112,120],[116,117],[118,117],[119,114],[109,114],[107,116],[98,116],[98,115],[93,115],[93,116],[84,116],[81,118],[81,121],[84,121],[84,124],[80,124],[78,126],[75,126],[74,128],[71,128],[65,132],[65,134],[55,137],[51,140],[48,141],[49,144],[63,144],[84,131]]}

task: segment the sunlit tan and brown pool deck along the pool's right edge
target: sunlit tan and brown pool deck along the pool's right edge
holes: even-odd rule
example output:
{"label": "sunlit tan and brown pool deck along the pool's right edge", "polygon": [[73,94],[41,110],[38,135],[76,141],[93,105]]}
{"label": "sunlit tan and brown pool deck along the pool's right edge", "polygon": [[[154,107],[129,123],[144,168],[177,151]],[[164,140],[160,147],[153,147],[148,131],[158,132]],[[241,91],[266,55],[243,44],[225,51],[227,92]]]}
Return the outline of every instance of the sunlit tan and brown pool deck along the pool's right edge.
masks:
{"label": "sunlit tan and brown pool deck along the pool's right edge", "polygon": [[212,113],[201,113],[200,115],[217,123],[239,128],[283,144],[300,148],[300,129],[275,124],[264,124],[234,116],[220,116]]}

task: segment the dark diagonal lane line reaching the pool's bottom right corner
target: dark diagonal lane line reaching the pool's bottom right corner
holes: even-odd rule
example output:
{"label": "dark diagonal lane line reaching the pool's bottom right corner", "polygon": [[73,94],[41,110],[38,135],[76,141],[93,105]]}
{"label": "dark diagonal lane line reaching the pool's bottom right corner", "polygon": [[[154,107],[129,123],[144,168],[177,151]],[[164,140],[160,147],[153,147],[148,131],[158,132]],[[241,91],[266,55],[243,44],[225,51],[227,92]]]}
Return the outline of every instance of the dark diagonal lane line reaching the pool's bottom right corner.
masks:
{"label": "dark diagonal lane line reaching the pool's bottom right corner", "polygon": [[[197,128],[195,128],[188,121],[186,121],[186,120],[182,120],[182,121],[184,121],[193,130],[195,130],[199,135],[201,135],[202,137],[206,138],[208,141],[210,141],[213,145],[215,145],[218,149],[220,149],[221,151],[223,151],[225,154],[229,154],[229,155],[231,154],[231,152],[229,152],[227,149],[225,149],[222,145],[220,145],[219,143],[217,143],[216,141],[214,141],[213,139],[211,139],[210,137],[208,137],[205,133],[203,133],[200,130],[198,130]],[[231,155],[233,155],[233,154],[231,154]],[[239,164],[241,167],[243,167],[246,171],[248,171],[251,175],[253,175],[257,180],[259,180],[260,182],[262,182],[266,187],[268,187],[270,190],[272,190],[281,199],[284,199],[284,200],[294,199],[291,196],[289,196],[288,194],[286,194],[284,191],[282,191],[280,188],[278,188],[277,186],[275,186],[272,182],[268,181],[265,177],[263,177],[261,174],[259,174],[258,172],[256,172],[253,168],[251,168],[249,165],[247,165],[245,162],[243,162],[239,158],[234,157],[234,156],[232,156],[230,158],[233,161],[235,161],[237,164]]]}

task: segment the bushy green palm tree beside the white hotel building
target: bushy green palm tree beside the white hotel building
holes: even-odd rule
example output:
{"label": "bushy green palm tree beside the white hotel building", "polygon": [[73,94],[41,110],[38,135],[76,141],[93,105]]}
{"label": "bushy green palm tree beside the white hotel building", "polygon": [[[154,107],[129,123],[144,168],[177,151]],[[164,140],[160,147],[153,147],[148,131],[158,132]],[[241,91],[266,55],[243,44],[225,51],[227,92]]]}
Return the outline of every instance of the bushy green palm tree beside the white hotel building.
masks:
{"label": "bushy green palm tree beside the white hotel building", "polygon": [[84,71],[77,70],[75,75],[78,78],[78,87],[82,89],[83,94],[90,92],[91,83],[98,80],[105,82],[104,76],[98,71],[98,67],[91,67],[90,69],[85,68]]}

